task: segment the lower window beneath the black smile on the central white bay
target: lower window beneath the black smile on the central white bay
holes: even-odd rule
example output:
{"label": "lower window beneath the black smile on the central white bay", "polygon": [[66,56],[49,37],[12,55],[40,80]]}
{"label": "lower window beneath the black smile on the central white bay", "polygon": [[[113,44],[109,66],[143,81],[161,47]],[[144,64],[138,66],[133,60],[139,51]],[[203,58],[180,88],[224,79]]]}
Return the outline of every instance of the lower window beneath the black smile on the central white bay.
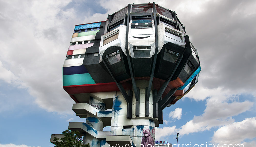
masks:
{"label": "lower window beneath the black smile on the central white bay", "polygon": [[151,46],[133,46],[134,58],[149,58]]}

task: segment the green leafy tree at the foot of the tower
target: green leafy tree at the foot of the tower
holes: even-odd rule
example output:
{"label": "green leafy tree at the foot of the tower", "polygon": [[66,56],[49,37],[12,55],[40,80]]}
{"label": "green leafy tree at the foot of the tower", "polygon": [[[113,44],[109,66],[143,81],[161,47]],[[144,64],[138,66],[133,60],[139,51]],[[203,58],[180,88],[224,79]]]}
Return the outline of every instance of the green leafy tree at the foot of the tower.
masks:
{"label": "green leafy tree at the foot of the tower", "polygon": [[54,147],[90,147],[89,143],[83,144],[82,136],[79,136],[79,131],[70,131],[69,129],[62,132],[64,137],[60,141],[54,137]]}

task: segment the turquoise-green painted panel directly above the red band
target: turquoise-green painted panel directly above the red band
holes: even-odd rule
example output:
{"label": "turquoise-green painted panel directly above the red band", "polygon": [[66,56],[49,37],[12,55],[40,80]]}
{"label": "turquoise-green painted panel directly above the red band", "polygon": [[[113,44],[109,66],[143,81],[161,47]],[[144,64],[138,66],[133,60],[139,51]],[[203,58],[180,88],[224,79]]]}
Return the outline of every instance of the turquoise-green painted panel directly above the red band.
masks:
{"label": "turquoise-green painted panel directly above the red band", "polygon": [[63,76],[63,86],[95,84],[89,73]]}

